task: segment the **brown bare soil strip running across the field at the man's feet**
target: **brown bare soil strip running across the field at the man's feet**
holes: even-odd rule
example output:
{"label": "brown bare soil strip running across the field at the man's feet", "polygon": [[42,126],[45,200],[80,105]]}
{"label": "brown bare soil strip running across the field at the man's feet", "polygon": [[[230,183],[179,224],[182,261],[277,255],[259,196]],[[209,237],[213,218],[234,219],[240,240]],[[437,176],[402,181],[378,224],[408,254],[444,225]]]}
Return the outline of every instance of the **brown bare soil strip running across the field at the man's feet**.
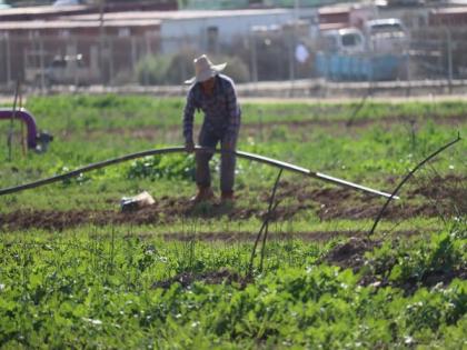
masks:
{"label": "brown bare soil strip running across the field at the man's feet", "polygon": [[[414,217],[446,217],[467,212],[466,178],[434,178],[431,183],[420,183],[405,193],[407,200],[391,202],[382,218],[401,221]],[[248,198],[248,193],[240,193]],[[276,200],[279,206],[271,221],[294,220],[300,213],[315,213],[320,220],[375,219],[384,201],[341,188],[309,188],[302,183],[284,181]],[[269,191],[259,196],[259,202],[242,207],[219,203],[192,206],[188,198],[162,197],[150,207],[137,211],[122,212],[112,203],[109,210],[18,210],[0,214],[0,230],[26,229],[64,230],[83,224],[160,224],[182,218],[210,219],[226,217],[230,220],[258,218],[267,214]],[[286,203],[281,204],[280,202]]]}

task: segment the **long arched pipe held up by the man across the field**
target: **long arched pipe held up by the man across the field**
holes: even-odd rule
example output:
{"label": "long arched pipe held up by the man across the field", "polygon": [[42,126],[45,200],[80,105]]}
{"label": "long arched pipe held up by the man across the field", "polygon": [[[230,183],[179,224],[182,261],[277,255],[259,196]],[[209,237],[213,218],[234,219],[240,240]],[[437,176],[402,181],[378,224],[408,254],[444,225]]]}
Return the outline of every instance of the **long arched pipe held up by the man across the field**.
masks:
{"label": "long arched pipe held up by the man across the field", "polygon": [[[262,157],[259,154],[255,154],[255,153],[248,153],[248,152],[242,152],[242,151],[225,151],[225,150],[213,150],[210,148],[205,148],[205,147],[196,147],[195,148],[196,152],[217,152],[217,153],[235,153],[237,157],[239,158],[244,158],[244,159],[248,159],[248,160],[252,160],[252,161],[257,161],[260,163],[265,163],[268,166],[272,166],[272,167],[277,167],[284,170],[289,170],[296,173],[300,173],[304,176],[308,176],[310,178],[315,178],[318,180],[322,180],[326,182],[330,182],[334,184],[338,184],[341,187],[347,187],[350,188],[352,190],[358,190],[361,192],[366,192],[372,196],[380,196],[380,197],[386,197],[386,198],[390,198],[390,199],[398,199],[398,197],[396,196],[391,196],[389,193],[386,192],[381,192],[361,184],[357,184],[354,182],[349,182],[342,179],[338,179],[338,178],[334,178],[330,176],[327,176],[325,173],[321,172],[315,172],[311,171],[309,169],[306,168],[301,168],[291,163],[287,163],[280,160],[276,160],[272,158],[267,158],[267,157]],[[46,186],[49,183],[53,183],[60,180],[66,180],[69,178],[73,178],[77,176],[80,176],[83,172],[88,172],[91,170],[96,170],[96,169],[101,169],[105,167],[109,167],[112,164],[117,164],[117,163],[121,163],[128,160],[132,160],[132,159],[138,159],[138,158],[142,158],[142,157],[147,157],[147,156],[156,156],[156,154],[169,154],[169,153],[181,153],[181,152],[186,152],[185,147],[170,147],[170,148],[160,148],[160,149],[152,149],[152,150],[147,150],[147,151],[141,151],[141,152],[137,152],[137,153],[130,153],[130,154],[126,154],[119,158],[113,158],[113,159],[109,159],[109,160],[105,160],[101,162],[97,162],[97,163],[91,163],[88,164],[86,167],[72,170],[70,172],[66,172],[62,174],[58,174],[51,178],[47,178],[47,179],[42,179],[42,180],[38,180],[34,182],[29,182],[26,184],[21,184],[21,186],[17,186],[17,187],[10,187],[10,188],[6,188],[6,189],[0,189],[0,197],[4,196],[4,194],[11,194],[11,193],[16,193],[16,192],[20,192],[20,191],[24,191],[28,189],[33,189],[37,187],[41,187],[41,186]]]}

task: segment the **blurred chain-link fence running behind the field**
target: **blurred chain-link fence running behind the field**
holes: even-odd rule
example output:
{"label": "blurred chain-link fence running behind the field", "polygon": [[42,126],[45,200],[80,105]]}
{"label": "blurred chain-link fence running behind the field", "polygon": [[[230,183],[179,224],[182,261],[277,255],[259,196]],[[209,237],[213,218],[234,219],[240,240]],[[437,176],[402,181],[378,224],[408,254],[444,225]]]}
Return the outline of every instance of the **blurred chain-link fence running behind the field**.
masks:
{"label": "blurred chain-link fence running behind the field", "polygon": [[[467,76],[467,28],[424,28],[409,33],[395,73],[327,74],[320,70],[322,49],[318,38],[297,31],[256,30],[222,42],[216,36],[145,37],[0,37],[0,87],[10,89],[17,80],[36,89],[51,86],[179,86],[192,74],[192,59],[209,53],[212,61],[227,61],[226,73],[238,83],[310,80],[456,80]],[[387,56],[387,54],[386,54]],[[367,69],[384,54],[352,54],[342,61],[345,72]],[[330,62],[331,57],[325,56]],[[378,61],[379,62],[379,61]],[[350,66],[345,66],[350,64]],[[381,61],[374,71],[388,64]]]}

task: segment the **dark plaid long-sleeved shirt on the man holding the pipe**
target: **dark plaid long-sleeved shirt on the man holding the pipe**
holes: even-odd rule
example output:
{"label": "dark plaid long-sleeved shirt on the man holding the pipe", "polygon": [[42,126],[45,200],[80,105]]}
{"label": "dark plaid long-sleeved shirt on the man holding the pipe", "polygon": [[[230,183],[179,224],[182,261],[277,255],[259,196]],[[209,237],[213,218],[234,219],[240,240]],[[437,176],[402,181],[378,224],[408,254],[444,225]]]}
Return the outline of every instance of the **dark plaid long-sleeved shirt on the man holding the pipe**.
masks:
{"label": "dark plaid long-sleeved shirt on the man holding the pipe", "polygon": [[205,113],[202,128],[223,136],[227,140],[234,141],[237,138],[241,111],[234,81],[229,77],[216,76],[211,96],[202,92],[200,83],[190,88],[183,112],[183,137],[187,142],[192,141],[195,110],[202,110]]}

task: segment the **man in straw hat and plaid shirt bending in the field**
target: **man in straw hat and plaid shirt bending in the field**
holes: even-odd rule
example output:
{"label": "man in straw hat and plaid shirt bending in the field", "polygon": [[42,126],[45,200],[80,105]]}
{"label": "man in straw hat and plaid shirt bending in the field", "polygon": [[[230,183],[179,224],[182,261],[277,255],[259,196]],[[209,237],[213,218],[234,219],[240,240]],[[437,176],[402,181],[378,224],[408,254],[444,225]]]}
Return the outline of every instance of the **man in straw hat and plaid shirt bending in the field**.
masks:
{"label": "man in straw hat and plaid shirt bending in the field", "polygon": [[[240,107],[237,103],[237,93],[234,81],[220,72],[227,63],[212,64],[206,54],[193,60],[195,77],[185,83],[191,84],[187,96],[183,112],[183,137],[187,152],[195,151],[193,114],[195,110],[205,113],[199,146],[216,148],[220,141],[220,149],[235,151],[240,128]],[[199,151],[196,153],[196,183],[198,193],[192,202],[209,201],[213,199],[209,160],[213,152]],[[221,201],[234,201],[235,162],[234,153],[221,153],[220,191]]]}

